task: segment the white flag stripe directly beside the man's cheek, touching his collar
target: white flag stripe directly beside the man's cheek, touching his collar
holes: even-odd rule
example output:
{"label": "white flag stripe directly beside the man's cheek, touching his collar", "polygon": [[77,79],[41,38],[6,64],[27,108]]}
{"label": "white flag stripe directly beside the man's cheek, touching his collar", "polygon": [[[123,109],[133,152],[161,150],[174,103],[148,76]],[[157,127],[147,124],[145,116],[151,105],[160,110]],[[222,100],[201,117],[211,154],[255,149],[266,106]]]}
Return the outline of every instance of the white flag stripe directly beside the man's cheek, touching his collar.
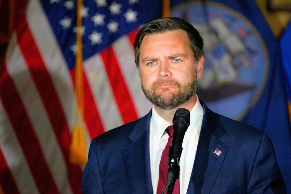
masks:
{"label": "white flag stripe directly beside the man's cheek, touching his collar", "polygon": [[115,41],[113,43],[113,50],[120,64],[133,103],[136,106],[137,114],[139,117],[144,116],[151,109],[152,104],[147,100],[142,91],[138,69],[134,63],[134,50],[128,37],[122,36]]}

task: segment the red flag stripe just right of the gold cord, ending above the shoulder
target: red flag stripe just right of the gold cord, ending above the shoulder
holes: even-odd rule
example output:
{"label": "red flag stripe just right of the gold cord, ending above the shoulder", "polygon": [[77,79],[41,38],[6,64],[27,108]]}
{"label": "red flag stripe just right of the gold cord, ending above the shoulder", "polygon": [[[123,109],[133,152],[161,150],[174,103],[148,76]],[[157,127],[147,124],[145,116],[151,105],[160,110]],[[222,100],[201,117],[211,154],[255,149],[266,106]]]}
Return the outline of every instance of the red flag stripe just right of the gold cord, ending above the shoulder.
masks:
{"label": "red flag stripe just right of the gold cord, ending above the shoulder", "polygon": [[[75,85],[75,69],[71,70],[71,77]],[[105,132],[103,123],[98,113],[97,105],[86,74],[83,72],[83,91],[84,91],[84,119],[91,139]]]}

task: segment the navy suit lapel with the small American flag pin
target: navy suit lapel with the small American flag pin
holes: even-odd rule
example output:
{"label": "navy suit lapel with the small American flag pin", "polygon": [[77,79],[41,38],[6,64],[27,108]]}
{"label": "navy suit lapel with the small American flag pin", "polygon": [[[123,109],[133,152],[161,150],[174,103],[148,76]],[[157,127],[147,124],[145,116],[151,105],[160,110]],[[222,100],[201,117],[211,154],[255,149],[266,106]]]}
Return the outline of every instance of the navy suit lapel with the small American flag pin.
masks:
{"label": "navy suit lapel with the small American flag pin", "polygon": [[[219,115],[209,110],[203,102],[204,116],[198,141],[194,166],[187,193],[210,193],[224,161],[228,146],[218,138],[225,134]],[[218,148],[222,153],[214,153]]]}

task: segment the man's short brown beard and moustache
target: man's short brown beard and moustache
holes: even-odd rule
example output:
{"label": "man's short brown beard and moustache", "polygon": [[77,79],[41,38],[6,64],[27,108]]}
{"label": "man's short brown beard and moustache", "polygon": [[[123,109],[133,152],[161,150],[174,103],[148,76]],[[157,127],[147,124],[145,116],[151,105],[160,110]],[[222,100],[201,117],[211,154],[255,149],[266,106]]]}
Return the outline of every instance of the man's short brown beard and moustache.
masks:
{"label": "man's short brown beard and moustache", "polygon": [[[156,89],[161,84],[176,85],[178,87],[178,91],[170,92],[169,88],[160,88],[161,91],[157,92]],[[151,88],[148,90],[146,90],[142,85],[144,95],[147,97],[147,99],[151,103],[153,103],[155,106],[163,110],[171,110],[187,102],[196,93],[196,88],[197,88],[196,79],[184,85],[180,84],[176,80],[169,80],[169,79],[158,80],[158,81],[155,81],[151,85]],[[163,94],[165,92],[167,92],[168,94]]]}

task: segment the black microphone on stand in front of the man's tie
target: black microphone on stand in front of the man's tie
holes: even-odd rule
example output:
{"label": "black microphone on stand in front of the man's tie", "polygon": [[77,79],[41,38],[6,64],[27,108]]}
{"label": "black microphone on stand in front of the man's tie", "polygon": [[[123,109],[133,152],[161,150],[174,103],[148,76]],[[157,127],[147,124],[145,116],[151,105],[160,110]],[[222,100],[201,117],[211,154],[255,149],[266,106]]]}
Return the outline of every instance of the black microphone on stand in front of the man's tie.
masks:
{"label": "black microphone on stand in front of the man's tie", "polygon": [[[172,146],[169,150],[169,170],[167,173],[167,184],[166,189],[172,184],[173,179],[179,178],[180,175],[180,166],[179,161],[182,153],[182,143],[185,136],[185,132],[190,125],[190,112],[185,108],[179,108],[176,110],[173,118],[173,140]],[[163,193],[162,192],[162,193]]]}

